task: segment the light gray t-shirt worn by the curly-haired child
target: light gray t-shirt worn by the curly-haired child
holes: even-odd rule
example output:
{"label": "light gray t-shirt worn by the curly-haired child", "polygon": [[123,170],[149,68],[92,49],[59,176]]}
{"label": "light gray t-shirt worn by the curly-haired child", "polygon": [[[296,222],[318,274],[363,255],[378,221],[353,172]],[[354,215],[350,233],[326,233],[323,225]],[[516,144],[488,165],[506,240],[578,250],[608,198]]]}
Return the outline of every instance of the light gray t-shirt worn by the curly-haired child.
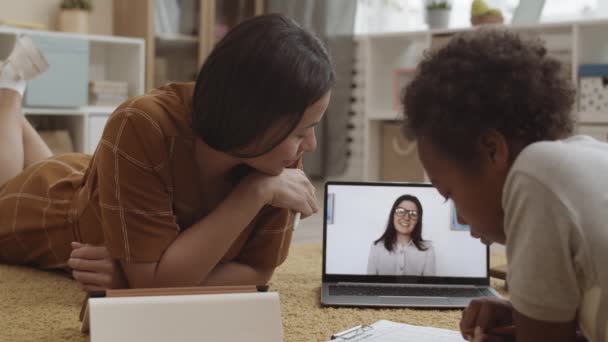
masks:
{"label": "light gray t-shirt worn by the curly-haired child", "polygon": [[608,144],[576,136],[526,147],[502,205],[515,309],[577,319],[590,341],[608,341]]}

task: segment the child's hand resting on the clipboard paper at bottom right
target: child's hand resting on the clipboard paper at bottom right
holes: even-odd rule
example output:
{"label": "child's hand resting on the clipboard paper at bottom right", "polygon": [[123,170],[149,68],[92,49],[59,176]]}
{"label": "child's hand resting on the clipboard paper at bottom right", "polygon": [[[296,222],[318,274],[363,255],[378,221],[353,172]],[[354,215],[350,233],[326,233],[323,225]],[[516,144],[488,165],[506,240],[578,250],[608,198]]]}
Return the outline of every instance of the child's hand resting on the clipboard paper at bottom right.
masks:
{"label": "child's hand resting on the clipboard paper at bottom right", "polygon": [[498,336],[488,333],[492,328],[512,324],[513,306],[509,301],[497,298],[481,298],[471,301],[462,312],[460,331],[462,337],[468,341],[514,341],[514,336]]}

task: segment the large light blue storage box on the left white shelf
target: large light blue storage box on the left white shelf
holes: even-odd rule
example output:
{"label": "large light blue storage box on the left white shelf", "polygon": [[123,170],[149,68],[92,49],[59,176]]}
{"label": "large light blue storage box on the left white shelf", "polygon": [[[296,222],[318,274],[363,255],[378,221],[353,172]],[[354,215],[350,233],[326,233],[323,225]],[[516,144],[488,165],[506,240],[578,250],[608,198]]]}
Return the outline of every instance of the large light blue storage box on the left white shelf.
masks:
{"label": "large light blue storage box on the left white shelf", "polygon": [[31,35],[49,70],[28,83],[27,107],[79,107],[88,103],[89,42],[82,38]]}

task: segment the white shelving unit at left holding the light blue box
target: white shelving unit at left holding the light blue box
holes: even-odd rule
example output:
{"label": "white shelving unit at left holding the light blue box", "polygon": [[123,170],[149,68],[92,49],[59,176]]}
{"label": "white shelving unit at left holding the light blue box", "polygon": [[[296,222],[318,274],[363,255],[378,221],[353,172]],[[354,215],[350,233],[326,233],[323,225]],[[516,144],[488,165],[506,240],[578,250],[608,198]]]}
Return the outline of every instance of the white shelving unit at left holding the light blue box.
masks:
{"label": "white shelving unit at left holding the light blue box", "polygon": [[[83,40],[88,44],[88,80],[121,81],[128,84],[128,96],[145,91],[145,44],[143,39],[32,31],[0,26],[0,39],[19,34]],[[1,46],[0,49],[10,48]],[[0,51],[7,55],[8,51]],[[53,68],[51,64],[50,68]],[[62,87],[57,84],[57,87]],[[116,104],[118,105],[118,104]],[[75,152],[93,153],[105,123],[116,106],[24,107],[23,113],[34,123],[44,122],[53,129],[67,129]]]}

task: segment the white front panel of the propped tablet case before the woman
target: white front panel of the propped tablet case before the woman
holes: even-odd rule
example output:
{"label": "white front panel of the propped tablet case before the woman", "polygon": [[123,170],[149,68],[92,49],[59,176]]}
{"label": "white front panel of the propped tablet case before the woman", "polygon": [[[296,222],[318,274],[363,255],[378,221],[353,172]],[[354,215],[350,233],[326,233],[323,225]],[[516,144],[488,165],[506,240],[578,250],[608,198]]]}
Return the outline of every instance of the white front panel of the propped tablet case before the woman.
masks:
{"label": "white front panel of the propped tablet case before the woman", "polygon": [[282,342],[276,292],[89,299],[91,342]]}

